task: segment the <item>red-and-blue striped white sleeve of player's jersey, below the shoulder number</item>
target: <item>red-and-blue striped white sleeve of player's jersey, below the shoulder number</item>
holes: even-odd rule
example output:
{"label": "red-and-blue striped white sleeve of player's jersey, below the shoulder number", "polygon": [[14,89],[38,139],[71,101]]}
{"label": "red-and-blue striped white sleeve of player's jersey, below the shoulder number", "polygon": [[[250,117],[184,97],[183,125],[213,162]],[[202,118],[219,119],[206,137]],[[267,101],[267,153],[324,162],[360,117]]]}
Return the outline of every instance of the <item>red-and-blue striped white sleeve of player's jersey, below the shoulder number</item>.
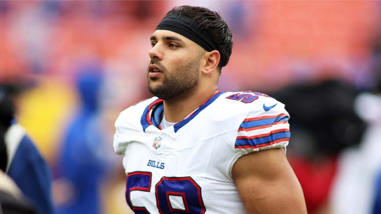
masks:
{"label": "red-and-blue striped white sleeve of player's jersey, below the shoulder number", "polygon": [[[266,104],[263,104],[263,106]],[[285,148],[290,139],[290,118],[284,105],[277,102],[273,108],[262,106],[250,111],[239,126],[235,149],[257,152],[273,148]]]}

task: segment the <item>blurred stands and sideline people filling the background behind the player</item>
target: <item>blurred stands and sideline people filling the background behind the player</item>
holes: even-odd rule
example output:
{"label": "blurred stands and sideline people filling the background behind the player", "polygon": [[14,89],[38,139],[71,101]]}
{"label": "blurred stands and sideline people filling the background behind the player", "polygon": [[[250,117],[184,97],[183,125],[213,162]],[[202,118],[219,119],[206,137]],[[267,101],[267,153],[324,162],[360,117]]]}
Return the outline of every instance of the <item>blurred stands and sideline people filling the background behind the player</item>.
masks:
{"label": "blurred stands and sideline people filling the background behind the player", "polygon": [[309,213],[380,214],[380,1],[0,1],[0,85],[51,167],[57,213],[128,213],[114,122],[150,96],[149,37],[183,4],[233,30],[220,90],[286,104]]}

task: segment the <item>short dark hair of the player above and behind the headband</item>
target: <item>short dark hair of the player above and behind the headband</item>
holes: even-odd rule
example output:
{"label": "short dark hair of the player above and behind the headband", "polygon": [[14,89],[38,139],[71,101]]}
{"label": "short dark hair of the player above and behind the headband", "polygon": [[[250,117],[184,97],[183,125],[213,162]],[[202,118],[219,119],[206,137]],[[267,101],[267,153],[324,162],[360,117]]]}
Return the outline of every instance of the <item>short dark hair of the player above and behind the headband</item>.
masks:
{"label": "short dark hair of the player above and behind the headband", "polygon": [[183,5],[168,11],[164,18],[174,13],[191,17],[198,22],[197,30],[206,31],[211,36],[218,46],[221,61],[224,62],[223,64],[220,62],[218,65],[218,70],[221,72],[222,67],[228,64],[232,54],[233,33],[220,14],[205,7]]}

